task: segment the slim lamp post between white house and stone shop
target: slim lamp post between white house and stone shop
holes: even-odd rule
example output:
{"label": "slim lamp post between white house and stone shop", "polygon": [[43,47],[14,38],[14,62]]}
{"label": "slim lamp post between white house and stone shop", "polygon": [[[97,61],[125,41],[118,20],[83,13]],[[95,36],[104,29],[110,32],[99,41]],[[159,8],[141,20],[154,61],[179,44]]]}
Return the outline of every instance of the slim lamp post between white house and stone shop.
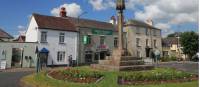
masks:
{"label": "slim lamp post between white house and stone shop", "polygon": [[[80,55],[80,53],[81,53],[81,50],[80,50],[80,48],[81,48],[81,44],[80,44],[80,43],[81,43],[81,40],[80,40],[79,19],[80,19],[80,17],[83,16],[84,14],[87,14],[87,12],[84,11],[83,13],[81,13],[80,15],[78,15],[78,17],[77,17],[77,28],[78,28],[78,33],[79,33],[79,34],[77,35],[77,37],[79,37],[79,44],[78,44],[78,49],[79,49],[79,50],[78,50],[78,51],[79,51],[79,52],[78,52],[78,53],[79,53],[78,55],[79,55],[79,57],[81,56],[81,55]],[[78,57],[78,59],[77,59],[77,66],[78,66],[78,63],[79,63],[79,57]]]}

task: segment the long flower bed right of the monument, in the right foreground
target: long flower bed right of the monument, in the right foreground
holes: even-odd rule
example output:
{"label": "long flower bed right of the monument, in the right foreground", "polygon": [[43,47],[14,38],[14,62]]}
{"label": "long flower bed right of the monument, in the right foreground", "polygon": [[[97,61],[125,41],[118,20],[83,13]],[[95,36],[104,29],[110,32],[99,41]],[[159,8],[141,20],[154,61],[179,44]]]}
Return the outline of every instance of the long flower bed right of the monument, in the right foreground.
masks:
{"label": "long flower bed right of the monument, in the right foreground", "polygon": [[166,82],[186,82],[198,80],[198,75],[177,71],[171,68],[156,68],[150,71],[122,72],[118,75],[118,84],[141,85]]}

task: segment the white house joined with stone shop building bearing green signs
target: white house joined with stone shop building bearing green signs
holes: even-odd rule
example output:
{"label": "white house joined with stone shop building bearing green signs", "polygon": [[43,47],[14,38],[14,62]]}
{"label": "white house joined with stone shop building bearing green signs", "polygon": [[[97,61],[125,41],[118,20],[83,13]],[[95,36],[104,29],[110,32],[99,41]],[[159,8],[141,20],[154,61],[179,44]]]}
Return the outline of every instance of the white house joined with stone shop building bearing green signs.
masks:
{"label": "white house joined with stone shop building bearing green signs", "polygon": [[60,16],[33,14],[26,32],[26,42],[38,43],[41,62],[68,65],[104,59],[114,48],[115,29],[111,23],[68,17],[65,8]]}

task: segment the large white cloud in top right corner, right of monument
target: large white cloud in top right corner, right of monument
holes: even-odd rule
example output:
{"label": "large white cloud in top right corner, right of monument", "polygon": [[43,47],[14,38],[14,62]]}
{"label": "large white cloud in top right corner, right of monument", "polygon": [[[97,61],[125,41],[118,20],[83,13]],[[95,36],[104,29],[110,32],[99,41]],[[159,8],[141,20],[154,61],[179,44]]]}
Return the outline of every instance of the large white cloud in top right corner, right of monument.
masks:
{"label": "large white cloud in top right corner, right of monument", "polygon": [[144,11],[137,11],[136,19],[152,18],[172,24],[198,22],[198,0],[154,0],[144,4]]}

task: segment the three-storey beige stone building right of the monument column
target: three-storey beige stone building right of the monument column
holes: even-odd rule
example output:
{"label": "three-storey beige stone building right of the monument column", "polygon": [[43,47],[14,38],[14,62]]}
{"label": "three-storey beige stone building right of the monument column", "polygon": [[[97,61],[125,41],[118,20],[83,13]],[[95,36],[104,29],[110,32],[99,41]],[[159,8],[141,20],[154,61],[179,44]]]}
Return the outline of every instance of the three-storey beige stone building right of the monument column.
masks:
{"label": "three-storey beige stone building right of the monument column", "polygon": [[150,58],[153,50],[162,53],[161,29],[153,27],[153,21],[129,20],[125,24],[128,52],[132,56]]}

